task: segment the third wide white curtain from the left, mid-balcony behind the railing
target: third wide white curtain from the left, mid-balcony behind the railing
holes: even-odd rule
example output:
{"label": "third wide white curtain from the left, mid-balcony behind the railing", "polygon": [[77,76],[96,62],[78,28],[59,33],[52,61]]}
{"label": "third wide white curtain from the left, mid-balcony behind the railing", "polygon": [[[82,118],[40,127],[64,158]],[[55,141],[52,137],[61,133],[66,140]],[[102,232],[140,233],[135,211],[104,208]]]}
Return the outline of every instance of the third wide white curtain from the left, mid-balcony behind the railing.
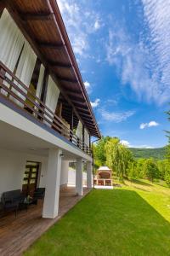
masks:
{"label": "third wide white curtain from the left, mid-balcony behind the railing", "polygon": [[[59,98],[59,88],[57,87],[57,84],[54,83],[54,80],[51,78],[51,76],[49,76],[48,90],[47,90],[47,96],[46,96],[45,104],[54,113],[55,113],[55,109],[57,107],[58,98]],[[51,114],[51,113],[49,113],[49,114],[52,118],[54,117],[53,114]],[[52,121],[50,118],[48,118],[47,115],[45,117],[47,119],[49,119],[50,121]],[[50,126],[50,124],[48,122],[45,121],[45,123]]]}

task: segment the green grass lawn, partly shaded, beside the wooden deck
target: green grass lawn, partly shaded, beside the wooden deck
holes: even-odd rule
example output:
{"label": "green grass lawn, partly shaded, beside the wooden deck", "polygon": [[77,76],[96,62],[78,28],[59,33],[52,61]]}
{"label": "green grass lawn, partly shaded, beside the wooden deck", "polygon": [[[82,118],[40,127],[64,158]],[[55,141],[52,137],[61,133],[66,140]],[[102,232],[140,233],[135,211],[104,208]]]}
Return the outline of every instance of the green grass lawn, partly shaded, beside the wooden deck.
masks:
{"label": "green grass lawn, partly shaded, beside the wooden deck", "polygon": [[170,255],[170,189],[145,181],[95,189],[25,255]]}

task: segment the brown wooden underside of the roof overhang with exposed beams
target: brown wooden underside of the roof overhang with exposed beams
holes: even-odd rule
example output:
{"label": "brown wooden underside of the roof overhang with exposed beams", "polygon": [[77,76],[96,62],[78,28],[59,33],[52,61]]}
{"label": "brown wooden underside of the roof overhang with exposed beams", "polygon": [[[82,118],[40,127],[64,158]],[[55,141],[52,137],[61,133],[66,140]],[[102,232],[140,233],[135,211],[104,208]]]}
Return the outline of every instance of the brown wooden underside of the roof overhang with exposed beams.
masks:
{"label": "brown wooden underside of the roof overhang with exposed beams", "polygon": [[42,63],[48,67],[77,118],[92,136],[100,137],[56,0],[7,0],[4,3]]}

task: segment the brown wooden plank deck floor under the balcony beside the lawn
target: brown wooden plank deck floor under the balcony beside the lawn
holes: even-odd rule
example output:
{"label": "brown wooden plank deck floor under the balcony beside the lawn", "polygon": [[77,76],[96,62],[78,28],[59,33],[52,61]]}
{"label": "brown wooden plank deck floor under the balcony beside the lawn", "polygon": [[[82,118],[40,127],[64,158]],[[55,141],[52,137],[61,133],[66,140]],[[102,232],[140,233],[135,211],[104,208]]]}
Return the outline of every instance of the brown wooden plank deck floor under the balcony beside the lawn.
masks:
{"label": "brown wooden plank deck floor under the balcony beside the lawn", "polygon": [[[84,189],[83,196],[89,191],[90,189]],[[59,196],[59,216],[54,219],[41,217],[42,201],[37,206],[29,207],[27,212],[18,212],[17,218],[14,217],[14,212],[0,218],[0,255],[22,255],[33,241],[74,207],[83,196],[76,196],[74,188],[62,189]]]}

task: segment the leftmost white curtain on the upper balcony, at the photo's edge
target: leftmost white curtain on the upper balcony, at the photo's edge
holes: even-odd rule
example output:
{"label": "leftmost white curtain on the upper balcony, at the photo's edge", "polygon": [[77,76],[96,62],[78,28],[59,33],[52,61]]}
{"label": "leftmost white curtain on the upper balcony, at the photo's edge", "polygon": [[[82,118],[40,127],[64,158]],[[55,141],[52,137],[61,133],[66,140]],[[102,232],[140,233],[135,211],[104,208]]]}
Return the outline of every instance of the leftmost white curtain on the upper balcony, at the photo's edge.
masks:
{"label": "leftmost white curtain on the upper balcony, at the photo's edge", "polygon": [[[0,19],[0,60],[12,72],[14,72],[24,40],[25,38],[20,29],[8,14],[7,9],[4,9]],[[5,84],[9,87],[7,83]],[[2,93],[7,95],[7,92],[4,90],[2,90]]]}

